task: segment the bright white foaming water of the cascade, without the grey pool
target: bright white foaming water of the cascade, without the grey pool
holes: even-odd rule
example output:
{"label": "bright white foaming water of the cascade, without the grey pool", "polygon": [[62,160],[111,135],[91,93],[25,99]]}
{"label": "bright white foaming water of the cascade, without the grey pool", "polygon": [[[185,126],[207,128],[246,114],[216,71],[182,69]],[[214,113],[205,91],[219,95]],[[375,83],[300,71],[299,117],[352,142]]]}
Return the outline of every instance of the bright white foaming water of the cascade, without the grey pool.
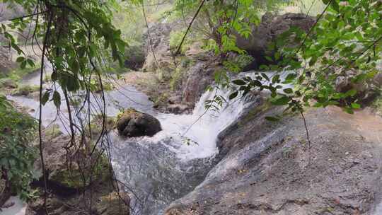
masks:
{"label": "bright white foaming water of the cascade, without the grey pool", "polygon": [[[212,100],[214,95],[228,98],[229,94],[230,91],[205,92],[191,115],[156,115],[163,131],[153,137],[146,137],[146,141],[158,142],[172,138],[172,142],[177,145],[172,145],[170,149],[183,161],[214,156],[218,152],[218,134],[240,116],[246,104],[243,100],[233,100],[224,104],[220,110],[207,110],[204,103],[206,100]],[[185,144],[187,139],[189,144]]]}

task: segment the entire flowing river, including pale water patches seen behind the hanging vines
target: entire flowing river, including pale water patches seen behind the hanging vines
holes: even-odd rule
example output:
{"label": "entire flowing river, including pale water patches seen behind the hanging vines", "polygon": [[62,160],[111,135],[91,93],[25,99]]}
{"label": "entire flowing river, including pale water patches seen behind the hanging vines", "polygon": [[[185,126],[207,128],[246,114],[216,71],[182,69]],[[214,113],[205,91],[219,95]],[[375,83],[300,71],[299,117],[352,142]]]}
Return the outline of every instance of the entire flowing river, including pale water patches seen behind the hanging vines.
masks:
{"label": "entire flowing river, including pale water patches seen behind the hanging vines", "polygon": [[[38,73],[30,75],[23,82],[38,85],[38,76]],[[170,202],[183,197],[199,185],[212,168],[214,156],[218,153],[216,139],[219,132],[250,105],[244,100],[233,100],[219,111],[206,111],[204,102],[212,100],[214,95],[228,98],[229,92],[208,91],[195,105],[192,114],[173,115],[156,111],[149,98],[132,86],[122,86],[105,93],[108,116],[116,116],[121,108],[134,108],[154,115],[163,129],[152,137],[126,139],[114,131],[109,134],[112,165],[117,179],[129,187],[130,192],[134,192],[132,214],[162,214]],[[8,98],[29,108],[30,115],[38,118],[38,100],[25,96]],[[96,103],[98,99],[99,95],[96,95],[93,101]],[[61,112],[65,114],[67,110],[62,107]],[[61,117],[57,117],[57,110],[52,102],[47,103],[42,108],[42,124],[48,126],[55,121],[62,132],[67,133],[67,120],[64,115],[60,115]],[[24,214],[25,204],[18,201],[18,204],[4,209],[1,214],[14,215],[14,211],[18,211],[18,215]]]}

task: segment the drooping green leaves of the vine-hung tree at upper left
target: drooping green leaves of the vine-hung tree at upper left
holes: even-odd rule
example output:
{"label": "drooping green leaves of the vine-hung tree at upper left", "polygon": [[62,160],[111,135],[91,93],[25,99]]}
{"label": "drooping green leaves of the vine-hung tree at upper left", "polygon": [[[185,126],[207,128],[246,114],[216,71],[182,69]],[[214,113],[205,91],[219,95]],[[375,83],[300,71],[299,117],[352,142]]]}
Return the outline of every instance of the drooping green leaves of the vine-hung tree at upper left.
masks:
{"label": "drooping green leaves of the vine-hung tree at upper left", "polygon": [[[105,50],[110,52],[112,61],[123,64],[126,43],[122,40],[121,30],[112,25],[110,8],[115,1],[44,1],[27,0],[11,1],[21,4],[26,11],[33,13],[36,6],[39,11],[46,11],[44,18],[35,22],[35,18],[16,18],[11,23],[1,25],[1,33],[11,42],[11,47],[21,57],[17,62],[21,69],[34,62],[25,57],[25,53],[18,47],[10,29],[25,30],[29,25],[37,40],[43,41],[45,56],[52,63],[51,80],[58,83],[64,91],[76,92],[87,90],[89,78],[100,76],[104,60],[100,54]],[[59,93],[54,91],[54,104],[59,108]]]}

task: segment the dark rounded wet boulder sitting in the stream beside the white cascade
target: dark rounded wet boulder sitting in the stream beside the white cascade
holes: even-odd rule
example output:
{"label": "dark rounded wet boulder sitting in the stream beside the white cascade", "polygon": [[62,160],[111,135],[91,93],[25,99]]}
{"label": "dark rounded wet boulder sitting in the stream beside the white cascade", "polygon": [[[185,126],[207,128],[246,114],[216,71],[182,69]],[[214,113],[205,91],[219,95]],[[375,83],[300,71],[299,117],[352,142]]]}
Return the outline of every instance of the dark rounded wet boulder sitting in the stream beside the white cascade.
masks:
{"label": "dark rounded wet boulder sitting in the stream beside the white cascade", "polygon": [[127,137],[154,136],[161,131],[161,123],[149,114],[129,108],[117,120],[117,129]]}

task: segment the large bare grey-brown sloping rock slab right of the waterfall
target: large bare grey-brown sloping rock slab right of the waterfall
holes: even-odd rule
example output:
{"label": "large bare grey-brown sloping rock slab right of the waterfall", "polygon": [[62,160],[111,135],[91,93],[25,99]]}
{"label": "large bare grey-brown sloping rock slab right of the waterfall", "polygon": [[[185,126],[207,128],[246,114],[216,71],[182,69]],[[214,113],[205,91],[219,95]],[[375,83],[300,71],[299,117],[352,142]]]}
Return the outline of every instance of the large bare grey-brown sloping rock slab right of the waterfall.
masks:
{"label": "large bare grey-brown sloping rock slab right of the waterfall", "polygon": [[299,115],[268,122],[279,110],[257,105],[221,133],[221,161],[166,215],[372,214],[381,192],[381,118],[308,110],[310,144]]}

